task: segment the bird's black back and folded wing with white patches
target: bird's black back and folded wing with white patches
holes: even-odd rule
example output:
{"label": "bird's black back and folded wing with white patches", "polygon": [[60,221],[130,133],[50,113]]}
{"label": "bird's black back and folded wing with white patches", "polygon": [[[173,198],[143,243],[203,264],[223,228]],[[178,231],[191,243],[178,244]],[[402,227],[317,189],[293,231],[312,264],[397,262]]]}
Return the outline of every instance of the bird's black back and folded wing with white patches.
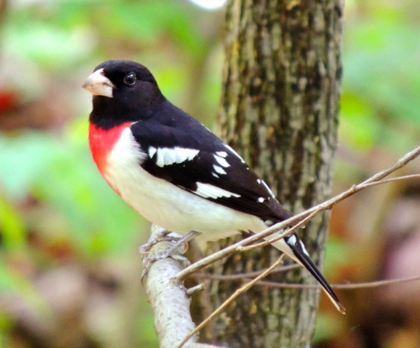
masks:
{"label": "bird's black back and folded wing with white patches", "polygon": [[[264,221],[278,222],[292,216],[234,150],[172,104],[131,129],[148,154],[141,166],[155,177]],[[176,154],[183,152],[186,157],[186,149],[193,150],[190,158],[174,162]],[[165,159],[164,152],[174,158]]]}

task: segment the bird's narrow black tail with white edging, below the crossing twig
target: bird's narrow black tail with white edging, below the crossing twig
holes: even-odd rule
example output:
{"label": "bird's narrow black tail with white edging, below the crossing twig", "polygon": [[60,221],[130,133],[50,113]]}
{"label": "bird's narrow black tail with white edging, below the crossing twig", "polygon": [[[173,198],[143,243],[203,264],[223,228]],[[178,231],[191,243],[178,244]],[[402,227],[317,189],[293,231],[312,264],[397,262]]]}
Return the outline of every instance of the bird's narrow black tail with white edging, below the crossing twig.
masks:
{"label": "bird's narrow black tail with white edging, below the crossing twig", "polygon": [[337,310],[342,314],[346,314],[346,309],[339,302],[338,296],[335,294],[334,290],[332,290],[330,284],[328,284],[321,271],[318,270],[318,267],[316,267],[314,261],[312,261],[309,257],[309,254],[305,249],[302,240],[300,240],[300,238],[295,234],[288,235],[288,237],[284,238],[284,240],[286,241],[288,247],[292,249],[295,258],[299,261],[299,263],[302,264],[304,268],[309,270],[309,273],[311,273],[311,275],[313,275],[314,278],[318,281],[323,291],[325,291],[328,298],[330,298],[331,302],[335,305]]}

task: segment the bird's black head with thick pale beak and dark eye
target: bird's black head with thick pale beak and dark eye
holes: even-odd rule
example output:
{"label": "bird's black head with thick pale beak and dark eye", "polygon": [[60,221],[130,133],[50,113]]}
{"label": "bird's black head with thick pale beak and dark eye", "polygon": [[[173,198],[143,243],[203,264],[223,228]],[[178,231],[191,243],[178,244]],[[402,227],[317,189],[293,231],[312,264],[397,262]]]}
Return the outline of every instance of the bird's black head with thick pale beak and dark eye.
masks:
{"label": "bird's black head with thick pale beak and dark eye", "polygon": [[99,64],[83,88],[94,95],[90,122],[103,128],[150,117],[165,101],[152,73],[129,60]]}

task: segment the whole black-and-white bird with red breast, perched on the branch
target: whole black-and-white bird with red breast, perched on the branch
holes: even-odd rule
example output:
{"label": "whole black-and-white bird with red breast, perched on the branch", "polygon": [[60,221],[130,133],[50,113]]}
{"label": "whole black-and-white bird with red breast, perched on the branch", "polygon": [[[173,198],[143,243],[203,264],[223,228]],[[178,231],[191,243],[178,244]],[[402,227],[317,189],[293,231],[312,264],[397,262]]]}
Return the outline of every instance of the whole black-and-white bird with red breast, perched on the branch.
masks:
{"label": "whole black-and-white bird with red breast, perched on the branch", "polygon": [[[83,88],[93,94],[89,145],[97,168],[150,222],[219,240],[293,216],[230,145],[165,98],[145,66],[104,61]],[[272,245],[306,268],[345,313],[296,233]]]}

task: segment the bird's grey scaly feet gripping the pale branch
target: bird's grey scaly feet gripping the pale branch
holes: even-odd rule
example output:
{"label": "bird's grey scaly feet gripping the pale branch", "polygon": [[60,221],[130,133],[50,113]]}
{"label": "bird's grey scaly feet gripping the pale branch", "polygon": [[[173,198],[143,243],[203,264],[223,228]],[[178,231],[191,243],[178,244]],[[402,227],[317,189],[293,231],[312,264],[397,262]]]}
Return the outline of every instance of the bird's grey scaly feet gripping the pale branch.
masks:
{"label": "bird's grey scaly feet gripping the pale branch", "polygon": [[[166,232],[166,233],[165,233]],[[140,251],[143,255],[143,273],[141,274],[141,282],[143,282],[144,277],[147,275],[149,268],[155,261],[167,259],[168,257],[181,262],[181,264],[184,267],[190,266],[190,261],[186,258],[186,256],[183,256],[183,253],[187,251],[188,242],[190,240],[193,240],[197,235],[200,234],[200,232],[197,231],[191,231],[190,233],[187,233],[186,235],[183,235],[183,237],[180,237],[179,235],[169,235],[169,232],[165,231],[157,235],[155,238],[151,238],[146,245],[143,245],[140,248]],[[150,252],[151,247],[155,245],[158,242],[161,241],[169,241],[173,242],[173,245],[168,247],[167,249],[163,250],[162,252],[157,252],[153,255],[148,255]],[[182,251],[179,250],[180,247],[183,247]]]}

